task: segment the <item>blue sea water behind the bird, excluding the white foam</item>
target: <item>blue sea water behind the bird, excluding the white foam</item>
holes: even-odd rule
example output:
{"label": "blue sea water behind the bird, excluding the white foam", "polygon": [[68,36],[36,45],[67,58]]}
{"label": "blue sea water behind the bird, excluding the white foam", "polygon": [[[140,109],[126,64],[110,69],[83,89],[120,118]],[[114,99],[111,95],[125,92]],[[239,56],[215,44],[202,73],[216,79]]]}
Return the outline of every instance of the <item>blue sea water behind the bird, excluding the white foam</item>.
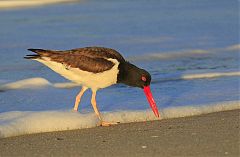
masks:
{"label": "blue sea water behind the bird, excluding the white foam", "polygon": [[[0,10],[0,84],[32,77],[67,82],[44,65],[24,60],[28,48],[105,46],[152,74],[151,88],[160,110],[236,101],[239,76],[169,78],[239,71],[238,15],[238,1],[229,0],[96,0]],[[238,48],[230,49],[233,45]],[[195,54],[197,50],[206,53]],[[0,112],[71,109],[79,90],[0,92]],[[92,111],[90,95],[90,91],[84,95],[80,111]],[[97,102],[101,111],[149,108],[141,89],[124,85],[99,90]]]}

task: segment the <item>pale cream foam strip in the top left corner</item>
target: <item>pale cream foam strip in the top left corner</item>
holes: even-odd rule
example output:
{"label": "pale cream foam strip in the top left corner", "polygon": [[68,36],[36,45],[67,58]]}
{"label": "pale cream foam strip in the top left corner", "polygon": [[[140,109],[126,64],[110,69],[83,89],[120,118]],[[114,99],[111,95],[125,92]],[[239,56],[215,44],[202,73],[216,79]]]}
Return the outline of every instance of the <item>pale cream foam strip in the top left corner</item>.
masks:
{"label": "pale cream foam strip in the top left corner", "polygon": [[0,2],[0,10],[28,8],[57,3],[71,3],[77,1],[79,0],[4,0]]}

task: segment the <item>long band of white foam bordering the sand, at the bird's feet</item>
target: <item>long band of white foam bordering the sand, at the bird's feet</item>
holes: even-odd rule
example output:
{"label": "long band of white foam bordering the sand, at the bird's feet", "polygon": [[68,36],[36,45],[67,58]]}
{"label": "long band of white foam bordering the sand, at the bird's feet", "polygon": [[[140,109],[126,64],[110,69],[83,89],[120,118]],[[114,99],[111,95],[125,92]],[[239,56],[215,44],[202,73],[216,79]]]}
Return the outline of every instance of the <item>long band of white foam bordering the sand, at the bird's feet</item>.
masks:
{"label": "long band of white foam bordering the sand, at the bird's feet", "polygon": [[[240,109],[239,101],[200,106],[171,107],[160,110],[160,119],[201,115],[211,112]],[[157,120],[151,110],[103,112],[110,122],[142,122]],[[91,128],[99,125],[94,113],[73,111],[15,111],[0,113],[0,138],[24,134]]]}

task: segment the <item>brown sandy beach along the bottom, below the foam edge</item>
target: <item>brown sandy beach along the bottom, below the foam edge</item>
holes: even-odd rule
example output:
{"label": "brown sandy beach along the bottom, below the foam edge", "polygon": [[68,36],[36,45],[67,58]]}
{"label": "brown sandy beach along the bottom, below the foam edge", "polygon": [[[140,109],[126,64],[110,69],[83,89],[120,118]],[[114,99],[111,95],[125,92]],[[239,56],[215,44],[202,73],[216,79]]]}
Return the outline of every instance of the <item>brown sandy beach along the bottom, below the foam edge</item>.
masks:
{"label": "brown sandy beach along the bottom, below the foam edge", "polygon": [[240,156],[239,111],[0,139],[0,156]]}

